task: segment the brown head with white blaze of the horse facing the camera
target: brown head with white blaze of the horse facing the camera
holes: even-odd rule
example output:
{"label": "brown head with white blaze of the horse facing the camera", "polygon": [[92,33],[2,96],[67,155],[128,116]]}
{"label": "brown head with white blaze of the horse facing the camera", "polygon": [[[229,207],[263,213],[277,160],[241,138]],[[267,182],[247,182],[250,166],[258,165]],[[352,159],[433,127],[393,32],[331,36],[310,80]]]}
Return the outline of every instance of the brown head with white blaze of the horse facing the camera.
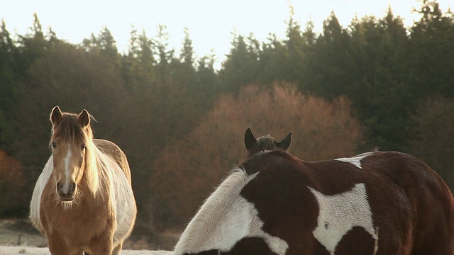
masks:
{"label": "brown head with white blaze of the horse facing the camera", "polygon": [[50,113],[53,176],[57,197],[63,202],[74,200],[77,183],[82,180],[89,163],[87,147],[92,145],[93,139],[90,118],[87,110],[79,115],[62,113],[58,106]]}

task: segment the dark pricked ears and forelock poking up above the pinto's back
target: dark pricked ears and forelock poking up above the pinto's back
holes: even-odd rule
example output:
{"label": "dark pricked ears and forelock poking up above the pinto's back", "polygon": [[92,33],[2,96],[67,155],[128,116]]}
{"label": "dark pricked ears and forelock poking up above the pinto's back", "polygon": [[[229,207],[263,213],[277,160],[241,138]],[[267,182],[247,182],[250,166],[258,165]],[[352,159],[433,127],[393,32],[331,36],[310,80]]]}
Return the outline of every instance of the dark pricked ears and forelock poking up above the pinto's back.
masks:
{"label": "dark pricked ears and forelock poking up above the pinto's back", "polygon": [[247,149],[246,157],[250,157],[253,154],[263,152],[265,150],[282,149],[283,151],[287,151],[291,142],[292,132],[289,132],[280,142],[277,142],[275,138],[270,137],[270,135],[264,135],[255,139],[255,136],[250,128],[248,128],[244,133],[244,145]]}

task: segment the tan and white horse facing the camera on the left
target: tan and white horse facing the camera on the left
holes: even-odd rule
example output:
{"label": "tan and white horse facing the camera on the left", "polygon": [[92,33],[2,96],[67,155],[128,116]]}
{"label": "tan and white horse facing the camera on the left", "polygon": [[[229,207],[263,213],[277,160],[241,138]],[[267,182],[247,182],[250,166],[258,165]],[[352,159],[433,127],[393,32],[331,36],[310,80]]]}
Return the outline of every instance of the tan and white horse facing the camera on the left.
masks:
{"label": "tan and white horse facing the camera on the left", "polygon": [[52,155],[33,191],[31,221],[51,254],[119,254],[137,210],[125,154],[94,140],[87,110],[50,114]]}

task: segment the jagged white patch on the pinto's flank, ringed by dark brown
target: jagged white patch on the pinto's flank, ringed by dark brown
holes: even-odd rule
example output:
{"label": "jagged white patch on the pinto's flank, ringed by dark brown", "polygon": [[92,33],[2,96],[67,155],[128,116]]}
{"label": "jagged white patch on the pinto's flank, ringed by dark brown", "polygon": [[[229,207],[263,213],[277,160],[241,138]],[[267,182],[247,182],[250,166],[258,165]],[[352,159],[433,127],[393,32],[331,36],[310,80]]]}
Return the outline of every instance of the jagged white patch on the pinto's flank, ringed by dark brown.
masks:
{"label": "jagged white patch on the pinto's flank, ringed by dark brown", "polygon": [[375,240],[378,239],[364,183],[358,183],[350,191],[333,196],[308,188],[316,197],[320,208],[318,225],[312,233],[331,255],[342,237],[353,227],[363,227]]}

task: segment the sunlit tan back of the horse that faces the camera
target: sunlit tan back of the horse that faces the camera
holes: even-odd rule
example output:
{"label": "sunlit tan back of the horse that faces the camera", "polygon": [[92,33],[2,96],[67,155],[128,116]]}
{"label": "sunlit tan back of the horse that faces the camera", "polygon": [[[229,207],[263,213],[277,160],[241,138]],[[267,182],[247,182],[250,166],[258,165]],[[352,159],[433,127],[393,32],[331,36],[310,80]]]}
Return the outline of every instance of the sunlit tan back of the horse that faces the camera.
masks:
{"label": "sunlit tan back of the horse that faces the camera", "polygon": [[114,142],[109,140],[103,139],[94,139],[94,145],[104,154],[114,159],[116,164],[120,166],[121,170],[128,179],[129,184],[131,185],[131,169],[129,169],[128,159],[126,158],[126,154],[116,145]]}

